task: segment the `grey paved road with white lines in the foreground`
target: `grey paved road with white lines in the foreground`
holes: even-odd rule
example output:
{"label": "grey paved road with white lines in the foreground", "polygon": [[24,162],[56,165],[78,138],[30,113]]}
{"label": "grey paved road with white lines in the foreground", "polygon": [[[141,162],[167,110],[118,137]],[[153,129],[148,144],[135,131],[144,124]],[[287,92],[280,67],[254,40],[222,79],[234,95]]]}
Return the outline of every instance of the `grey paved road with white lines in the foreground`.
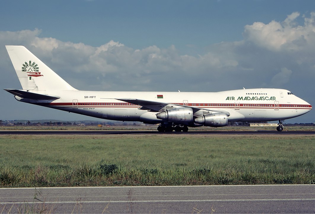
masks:
{"label": "grey paved road with white lines in the foreground", "polygon": [[0,188],[0,202],[2,213],[314,213],[315,185]]}

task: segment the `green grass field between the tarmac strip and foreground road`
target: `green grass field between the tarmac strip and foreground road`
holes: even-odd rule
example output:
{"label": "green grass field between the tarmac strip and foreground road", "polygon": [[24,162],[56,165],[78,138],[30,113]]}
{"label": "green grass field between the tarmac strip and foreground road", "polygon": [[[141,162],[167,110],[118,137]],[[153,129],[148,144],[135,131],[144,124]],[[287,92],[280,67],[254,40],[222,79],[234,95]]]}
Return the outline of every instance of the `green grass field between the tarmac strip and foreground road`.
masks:
{"label": "green grass field between the tarmac strip and foreground road", "polygon": [[0,187],[314,184],[315,137],[0,135]]}

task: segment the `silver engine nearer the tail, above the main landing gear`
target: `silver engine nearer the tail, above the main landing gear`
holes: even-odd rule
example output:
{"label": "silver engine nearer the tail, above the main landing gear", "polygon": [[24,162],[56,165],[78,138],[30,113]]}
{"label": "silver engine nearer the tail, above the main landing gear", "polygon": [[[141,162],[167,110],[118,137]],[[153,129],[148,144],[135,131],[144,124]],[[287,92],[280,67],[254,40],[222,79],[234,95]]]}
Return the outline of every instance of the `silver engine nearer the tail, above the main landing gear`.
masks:
{"label": "silver engine nearer the tail, above the main landing gear", "polygon": [[189,107],[180,107],[168,109],[157,113],[157,119],[163,119],[174,123],[187,123],[193,121],[193,111]]}

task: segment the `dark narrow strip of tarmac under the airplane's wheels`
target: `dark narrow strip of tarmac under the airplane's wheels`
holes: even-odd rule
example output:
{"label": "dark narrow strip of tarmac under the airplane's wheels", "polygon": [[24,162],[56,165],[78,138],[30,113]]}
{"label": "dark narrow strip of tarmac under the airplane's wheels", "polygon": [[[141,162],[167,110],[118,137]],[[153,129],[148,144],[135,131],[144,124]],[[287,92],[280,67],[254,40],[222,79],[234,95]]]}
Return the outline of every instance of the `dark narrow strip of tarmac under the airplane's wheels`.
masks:
{"label": "dark narrow strip of tarmac under the airplane's wheels", "polygon": [[258,135],[258,134],[278,134],[278,135],[314,135],[315,131],[188,131],[188,132],[158,132],[158,131],[0,131],[0,135],[4,134],[245,134],[245,135]]}

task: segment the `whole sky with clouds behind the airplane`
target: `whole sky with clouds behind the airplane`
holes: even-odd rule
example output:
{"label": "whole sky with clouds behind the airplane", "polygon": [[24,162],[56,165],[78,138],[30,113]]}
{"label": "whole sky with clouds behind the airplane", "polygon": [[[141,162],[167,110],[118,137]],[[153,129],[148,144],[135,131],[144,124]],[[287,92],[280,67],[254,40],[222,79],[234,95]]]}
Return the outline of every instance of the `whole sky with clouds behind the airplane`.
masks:
{"label": "whole sky with clouds behind the airplane", "polygon": [[[315,106],[313,0],[0,0],[0,85],[21,89],[5,45],[79,90],[282,88]],[[93,119],[0,97],[2,120]]]}

